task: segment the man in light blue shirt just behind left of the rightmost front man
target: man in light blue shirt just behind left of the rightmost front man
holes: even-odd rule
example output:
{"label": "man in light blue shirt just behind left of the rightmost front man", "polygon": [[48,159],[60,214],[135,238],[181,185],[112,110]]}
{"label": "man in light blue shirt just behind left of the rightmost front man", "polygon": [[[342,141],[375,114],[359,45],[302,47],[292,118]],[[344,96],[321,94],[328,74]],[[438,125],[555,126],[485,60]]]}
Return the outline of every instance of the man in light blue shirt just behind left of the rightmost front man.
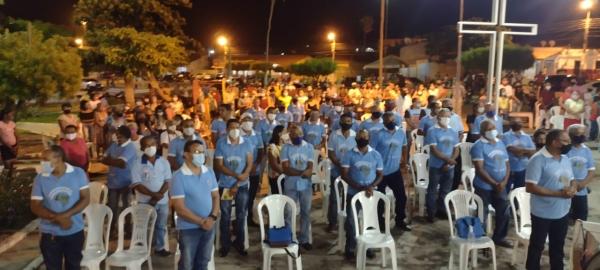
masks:
{"label": "man in light blue shirt just behind left of the rightmost front man", "polygon": [[502,142],[506,145],[510,161],[510,177],[506,185],[508,192],[525,186],[527,162],[529,162],[529,157],[536,152],[533,140],[522,130],[521,121],[513,120],[510,127],[511,131],[504,133],[504,136],[502,136]]}

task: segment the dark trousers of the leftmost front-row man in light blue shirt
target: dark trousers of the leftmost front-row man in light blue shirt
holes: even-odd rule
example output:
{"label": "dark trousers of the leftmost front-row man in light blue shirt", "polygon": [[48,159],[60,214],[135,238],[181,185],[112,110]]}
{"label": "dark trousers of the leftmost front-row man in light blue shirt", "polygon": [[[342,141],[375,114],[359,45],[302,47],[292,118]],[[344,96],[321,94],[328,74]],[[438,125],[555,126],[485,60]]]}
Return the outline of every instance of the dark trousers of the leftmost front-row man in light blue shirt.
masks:
{"label": "dark trousers of the leftmost front-row man in light blue shirt", "polygon": [[40,249],[44,264],[48,270],[62,270],[63,259],[66,270],[81,269],[81,250],[83,249],[83,230],[67,236],[53,236],[42,233]]}

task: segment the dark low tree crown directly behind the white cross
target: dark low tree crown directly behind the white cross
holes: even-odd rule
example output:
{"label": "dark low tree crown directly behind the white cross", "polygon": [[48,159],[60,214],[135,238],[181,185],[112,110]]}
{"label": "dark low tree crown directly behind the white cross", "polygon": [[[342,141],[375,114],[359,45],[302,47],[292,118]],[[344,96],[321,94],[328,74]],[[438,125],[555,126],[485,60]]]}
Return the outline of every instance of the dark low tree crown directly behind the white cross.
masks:
{"label": "dark low tree crown directly behind the white cross", "polygon": [[[462,63],[466,70],[487,71],[489,47],[474,48],[463,53]],[[504,47],[505,70],[522,71],[533,66],[535,59],[529,46],[507,45]]]}

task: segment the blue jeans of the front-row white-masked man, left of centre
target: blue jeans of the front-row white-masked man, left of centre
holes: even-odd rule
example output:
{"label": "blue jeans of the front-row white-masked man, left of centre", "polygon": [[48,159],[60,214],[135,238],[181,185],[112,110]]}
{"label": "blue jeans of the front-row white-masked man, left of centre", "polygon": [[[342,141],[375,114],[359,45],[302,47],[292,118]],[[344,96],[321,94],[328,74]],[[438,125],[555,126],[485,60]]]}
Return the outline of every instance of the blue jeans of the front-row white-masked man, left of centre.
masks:
{"label": "blue jeans of the front-row white-masked man, left of centre", "polygon": [[208,269],[215,239],[215,226],[209,231],[200,228],[179,230],[179,270]]}

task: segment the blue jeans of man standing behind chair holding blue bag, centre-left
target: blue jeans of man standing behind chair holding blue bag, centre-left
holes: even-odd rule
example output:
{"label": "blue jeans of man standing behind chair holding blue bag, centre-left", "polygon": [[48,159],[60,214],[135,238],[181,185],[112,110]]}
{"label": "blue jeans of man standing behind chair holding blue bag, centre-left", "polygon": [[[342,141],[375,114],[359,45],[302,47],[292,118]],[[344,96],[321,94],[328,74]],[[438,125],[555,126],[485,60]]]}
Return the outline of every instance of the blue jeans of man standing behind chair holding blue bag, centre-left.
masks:
{"label": "blue jeans of man standing behind chair holding blue bag, centre-left", "polygon": [[[284,188],[284,195],[292,198],[295,202],[300,202],[300,234],[298,236],[298,242],[300,244],[308,243],[310,233],[310,208],[312,203],[312,189],[307,188],[305,190],[296,190]],[[285,209],[285,223],[290,225],[292,223],[291,210],[288,207]],[[290,227],[291,228],[291,227]]]}

